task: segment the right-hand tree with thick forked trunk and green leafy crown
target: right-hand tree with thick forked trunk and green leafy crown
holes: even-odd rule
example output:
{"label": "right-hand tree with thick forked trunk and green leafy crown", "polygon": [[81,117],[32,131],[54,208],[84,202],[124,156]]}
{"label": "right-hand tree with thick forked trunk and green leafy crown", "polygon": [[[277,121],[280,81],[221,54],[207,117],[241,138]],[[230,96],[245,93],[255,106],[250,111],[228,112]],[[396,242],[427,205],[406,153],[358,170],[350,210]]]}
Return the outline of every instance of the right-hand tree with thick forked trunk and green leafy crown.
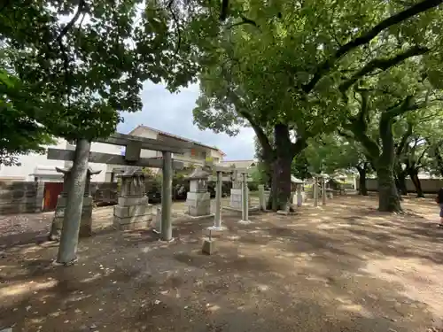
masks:
{"label": "right-hand tree with thick forked trunk and green leafy crown", "polygon": [[[439,90],[424,80],[417,61],[392,68],[356,88],[358,112],[350,115],[344,127],[361,143],[377,172],[379,209],[400,212],[400,196],[394,178],[394,123],[408,112],[424,110],[439,103]],[[377,123],[377,135],[370,135],[369,123]],[[403,144],[403,143],[400,143]]]}

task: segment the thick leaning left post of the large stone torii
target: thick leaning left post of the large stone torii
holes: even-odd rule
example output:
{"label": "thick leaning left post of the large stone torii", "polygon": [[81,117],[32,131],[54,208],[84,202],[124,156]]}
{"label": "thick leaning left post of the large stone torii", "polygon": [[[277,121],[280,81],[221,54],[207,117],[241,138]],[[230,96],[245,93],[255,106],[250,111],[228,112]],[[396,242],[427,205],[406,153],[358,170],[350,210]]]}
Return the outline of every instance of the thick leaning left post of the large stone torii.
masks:
{"label": "thick leaning left post of the large stone torii", "polygon": [[82,219],[83,197],[88,173],[90,142],[77,140],[71,181],[67,189],[67,201],[60,245],[58,246],[58,263],[69,264],[77,259],[80,222]]}

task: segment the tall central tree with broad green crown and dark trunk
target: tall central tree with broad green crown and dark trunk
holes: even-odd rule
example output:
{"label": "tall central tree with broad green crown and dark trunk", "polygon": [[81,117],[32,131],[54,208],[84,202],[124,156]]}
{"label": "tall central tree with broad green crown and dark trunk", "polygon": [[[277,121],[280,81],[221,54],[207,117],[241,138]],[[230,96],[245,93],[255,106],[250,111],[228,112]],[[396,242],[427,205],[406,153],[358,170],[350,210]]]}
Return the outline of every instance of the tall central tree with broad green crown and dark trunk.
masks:
{"label": "tall central tree with broad green crown and dark trunk", "polygon": [[[339,120],[338,88],[428,52],[410,45],[437,25],[439,4],[230,0],[220,38],[200,58],[206,66],[195,120],[231,134],[253,127],[273,166],[273,207],[281,208],[290,197],[292,158]],[[273,128],[275,149],[264,127]]]}

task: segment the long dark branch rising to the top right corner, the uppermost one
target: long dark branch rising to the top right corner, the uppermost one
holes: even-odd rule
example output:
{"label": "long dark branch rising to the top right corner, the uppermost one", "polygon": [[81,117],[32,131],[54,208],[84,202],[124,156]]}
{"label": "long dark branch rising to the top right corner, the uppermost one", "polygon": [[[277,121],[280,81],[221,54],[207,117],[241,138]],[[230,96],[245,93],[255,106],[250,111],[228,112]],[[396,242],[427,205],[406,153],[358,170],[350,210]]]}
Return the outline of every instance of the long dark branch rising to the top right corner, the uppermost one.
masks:
{"label": "long dark branch rising to the top right corner, the uppermost one", "polygon": [[303,91],[305,93],[308,93],[312,89],[314,89],[317,82],[320,81],[325,74],[329,73],[330,69],[335,66],[336,62],[344,55],[346,55],[346,53],[348,53],[349,51],[370,42],[386,28],[395,26],[406,19],[410,19],[421,12],[426,12],[431,8],[439,6],[439,4],[442,3],[443,0],[424,0],[418,4],[413,5],[412,7],[409,7],[407,10],[398,12],[391,17],[382,20],[380,23],[377,24],[377,26],[372,27],[365,34],[360,35],[351,42],[347,42],[345,45],[340,47],[334,55],[332,55],[322,64],[317,66],[317,69],[311,81],[302,86]]}

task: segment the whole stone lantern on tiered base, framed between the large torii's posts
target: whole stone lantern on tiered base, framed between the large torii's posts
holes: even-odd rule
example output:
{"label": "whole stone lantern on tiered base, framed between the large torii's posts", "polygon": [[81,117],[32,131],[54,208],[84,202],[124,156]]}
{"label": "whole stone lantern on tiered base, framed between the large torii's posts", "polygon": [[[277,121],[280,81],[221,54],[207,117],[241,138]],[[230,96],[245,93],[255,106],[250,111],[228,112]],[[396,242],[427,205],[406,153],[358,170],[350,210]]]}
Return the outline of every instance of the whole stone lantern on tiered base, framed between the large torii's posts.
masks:
{"label": "whole stone lantern on tiered base, framed between the large torii's posts", "polygon": [[152,221],[152,205],[148,204],[143,172],[128,169],[120,179],[118,205],[113,209],[114,227],[120,230],[148,228]]}

